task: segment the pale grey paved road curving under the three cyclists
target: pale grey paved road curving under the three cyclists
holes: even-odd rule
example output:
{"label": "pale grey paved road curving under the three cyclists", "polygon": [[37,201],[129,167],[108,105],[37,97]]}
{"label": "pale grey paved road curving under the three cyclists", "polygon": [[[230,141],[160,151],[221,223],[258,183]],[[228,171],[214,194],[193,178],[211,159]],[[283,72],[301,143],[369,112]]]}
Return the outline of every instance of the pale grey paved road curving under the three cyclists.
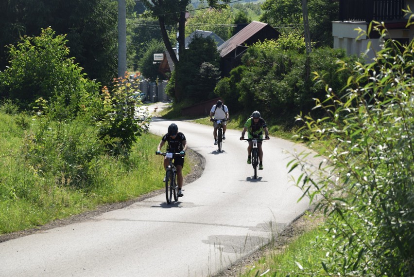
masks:
{"label": "pale grey paved road curving under the three cyclists", "polygon": [[[164,134],[170,123],[153,118],[151,131]],[[306,200],[297,203],[301,191],[289,182],[291,156],[284,153],[301,146],[266,141],[264,170],[255,180],[240,131],[227,130],[219,153],[212,127],[175,123],[189,147],[206,158],[203,175],[184,187],[183,198],[168,205],[161,194],[90,221],[0,243],[0,277],[210,276],[308,208]]]}

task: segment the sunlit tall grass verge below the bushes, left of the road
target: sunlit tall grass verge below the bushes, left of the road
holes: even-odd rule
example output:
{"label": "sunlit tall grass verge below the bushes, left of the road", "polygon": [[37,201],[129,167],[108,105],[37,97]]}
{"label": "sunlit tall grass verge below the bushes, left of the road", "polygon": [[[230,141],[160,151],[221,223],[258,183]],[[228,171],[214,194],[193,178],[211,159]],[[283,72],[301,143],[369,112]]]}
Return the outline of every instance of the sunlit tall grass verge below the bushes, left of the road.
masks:
{"label": "sunlit tall grass verge below the bushes, left of the road", "polygon": [[[127,158],[101,156],[88,168],[87,187],[73,187],[65,176],[41,172],[28,162],[18,115],[0,113],[0,234],[33,228],[92,210],[105,203],[131,200],[163,187],[160,137],[144,133]],[[51,163],[54,161],[51,161]],[[190,172],[186,161],[184,175]]]}

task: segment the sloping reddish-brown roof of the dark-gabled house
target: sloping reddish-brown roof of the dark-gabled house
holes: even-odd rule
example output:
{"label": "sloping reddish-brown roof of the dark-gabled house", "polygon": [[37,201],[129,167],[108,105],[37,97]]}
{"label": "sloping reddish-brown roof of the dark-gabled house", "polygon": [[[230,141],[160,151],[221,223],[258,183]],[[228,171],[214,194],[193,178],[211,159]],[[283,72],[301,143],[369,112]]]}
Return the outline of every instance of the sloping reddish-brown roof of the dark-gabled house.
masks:
{"label": "sloping reddish-brown roof of the dark-gabled house", "polygon": [[247,39],[255,35],[261,29],[266,27],[269,24],[259,22],[259,21],[252,21],[249,25],[244,27],[239,33],[230,37],[226,42],[224,42],[221,46],[217,49],[220,52],[220,56],[224,57],[225,55],[229,54],[231,51],[236,49],[236,46],[242,45]]}

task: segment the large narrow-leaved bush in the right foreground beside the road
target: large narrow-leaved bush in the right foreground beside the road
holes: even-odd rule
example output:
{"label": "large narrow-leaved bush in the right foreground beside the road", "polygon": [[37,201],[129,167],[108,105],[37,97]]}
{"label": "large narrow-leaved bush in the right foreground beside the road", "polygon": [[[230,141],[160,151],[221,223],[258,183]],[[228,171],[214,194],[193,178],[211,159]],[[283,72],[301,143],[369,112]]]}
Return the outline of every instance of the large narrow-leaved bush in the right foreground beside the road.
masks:
{"label": "large narrow-leaved bush in the right foreground beside the road", "polygon": [[297,180],[304,196],[322,196],[318,205],[329,215],[319,273],[414,274],[414,41],[402,55],[393,43],[385,46],[374,63],[342,63],[352,72],[344,91],[327,85],[316,102],[328,116],[298,117],[310,144],[321,143],[319,154],[329,159],[317,172],[304,156],[290,164],[304,169]]}

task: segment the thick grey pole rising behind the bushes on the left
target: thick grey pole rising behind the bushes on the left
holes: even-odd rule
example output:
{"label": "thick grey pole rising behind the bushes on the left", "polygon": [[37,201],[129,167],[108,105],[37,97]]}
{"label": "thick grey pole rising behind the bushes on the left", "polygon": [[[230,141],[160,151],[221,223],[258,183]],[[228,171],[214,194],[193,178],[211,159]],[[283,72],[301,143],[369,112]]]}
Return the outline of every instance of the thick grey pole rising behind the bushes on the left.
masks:
{"label": "thick grey pole rising behind the bushes on the left", "polygon": [[118,0],[118,77],[126,72],[126,7],[125,0]]}

